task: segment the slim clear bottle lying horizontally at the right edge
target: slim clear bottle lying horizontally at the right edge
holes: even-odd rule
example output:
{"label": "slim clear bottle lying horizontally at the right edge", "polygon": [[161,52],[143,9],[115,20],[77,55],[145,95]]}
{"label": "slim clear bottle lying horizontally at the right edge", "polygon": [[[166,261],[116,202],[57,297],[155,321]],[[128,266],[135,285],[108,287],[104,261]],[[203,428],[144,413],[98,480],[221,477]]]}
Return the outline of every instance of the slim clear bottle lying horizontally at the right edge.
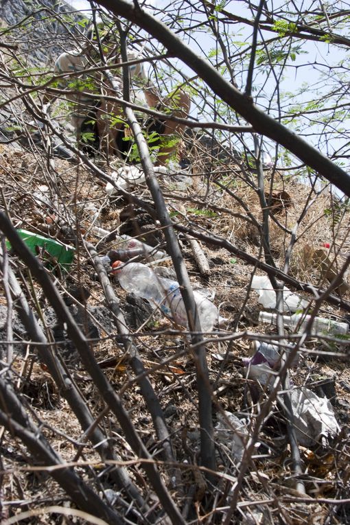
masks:
{"label": "slim clear bottle lying horizontally at the right edge", "polygon": [[[304,314],[293,314],[292,316],[282,316],[283,325],[290,327],[291,329],[297,329],[301,333],[309,320],[312,318],[310,315]],[[277,323],[277,314],[270,312],[260,312],[259,321],[262,323],[270,323],[275,325]],[[346,335],[349,331],[349,325],[347,323],[338,323],[333,319],[324,319],[322,317],[314,317],[311,332],[312,334],[318,335]]]}

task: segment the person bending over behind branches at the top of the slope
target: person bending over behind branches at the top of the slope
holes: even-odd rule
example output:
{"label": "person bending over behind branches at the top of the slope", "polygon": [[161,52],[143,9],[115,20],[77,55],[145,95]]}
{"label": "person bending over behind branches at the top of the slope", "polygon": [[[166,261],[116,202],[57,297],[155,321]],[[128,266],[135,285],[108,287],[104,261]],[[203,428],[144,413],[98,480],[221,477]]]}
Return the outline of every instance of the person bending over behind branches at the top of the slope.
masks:
{"label": "person bending over behind branches at the top of the slope", "polygon": [[[121,62],[119,45],[115,43],[111,28],[106,29],[105,25],[99,24],[97,31],[98,38],[95,30],[88,32],[82,49],[65,51],[58,56],[55,73],[71,75],[58,80],[57,85],[59,89],[65,89],[65,97],[71,102],[71,125],[82,151],[95,156],[102,150],[108,155],[116,154],[121,159],[132,161],[132,139],[123,108],[117,101],[103,97],[109,95],[122,98],[121,67],[113,68],[113,65]],[[141,54],[128,51],[128,61],[141,58]],[[118,93],[115,93],[101,71],[103,62],[113,73],[113,88],[117,86]],[[150,82],[143,62],[130,65],[129,73],[130,102],[160,112],[166,111],[176,117],[187,117],[191,102],[185,91],[178,90],[171,97],[161,97]],[[44,103],[47,102],[46,99]],[[175,161],[176,165],[181,156],[180,136],[185,126],[170,120],[153,119],[140,112],[137,112],[137,116],[141,119],[140,124],[145,133],[152,135],[152,147],[159,147],[155,165],[165,165],[169,159]]]}

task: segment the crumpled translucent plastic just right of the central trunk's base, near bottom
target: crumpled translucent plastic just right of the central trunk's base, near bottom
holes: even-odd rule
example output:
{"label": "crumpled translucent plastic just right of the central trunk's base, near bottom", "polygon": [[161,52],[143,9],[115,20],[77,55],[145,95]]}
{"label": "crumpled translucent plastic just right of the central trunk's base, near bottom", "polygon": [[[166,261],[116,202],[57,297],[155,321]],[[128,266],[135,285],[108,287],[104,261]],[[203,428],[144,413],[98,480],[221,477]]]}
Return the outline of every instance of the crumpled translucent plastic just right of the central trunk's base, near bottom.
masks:
{"label": "crumpled translucent plastic just right of the central trunk's base, near bottom", "polygon": [[[233,458],[242,460],[244,447],[248,441],[248,423],[246,419],[238,419],[232,412],[218,412],[218,423],[215,425],[215,439],[226,445]],[[259,443],[255,443],[258,447]]]}

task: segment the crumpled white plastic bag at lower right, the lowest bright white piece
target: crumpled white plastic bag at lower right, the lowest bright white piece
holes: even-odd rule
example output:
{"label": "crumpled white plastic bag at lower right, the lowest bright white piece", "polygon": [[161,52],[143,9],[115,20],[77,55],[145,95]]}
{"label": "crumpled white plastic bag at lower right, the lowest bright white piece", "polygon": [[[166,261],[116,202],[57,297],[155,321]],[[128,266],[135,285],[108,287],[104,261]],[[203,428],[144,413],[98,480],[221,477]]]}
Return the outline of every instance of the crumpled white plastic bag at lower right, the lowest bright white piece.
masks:
{"label": "crumpled white plastic bag at lower right, the lowest bright white piece", "polygon": [[309,447],[315,441],[333,438],[340,432],[334,410],[327,397],[318,397],[309,388],[294,388],[290,393],[296,439]]}

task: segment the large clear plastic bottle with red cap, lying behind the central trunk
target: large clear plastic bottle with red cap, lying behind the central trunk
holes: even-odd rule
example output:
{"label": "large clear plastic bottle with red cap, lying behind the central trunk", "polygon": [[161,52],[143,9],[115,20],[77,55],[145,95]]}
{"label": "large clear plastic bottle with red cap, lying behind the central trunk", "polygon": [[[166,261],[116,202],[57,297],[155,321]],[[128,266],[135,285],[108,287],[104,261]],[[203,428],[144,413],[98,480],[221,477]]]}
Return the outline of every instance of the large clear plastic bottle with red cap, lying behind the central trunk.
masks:
{"label": "large clear plastic bottle with red cap, lying behind the central trunk", "polygon": [[[159,305],[161,311],[174,319],[178,325],[188,327],[187,314],[177,281],[156,275],[151,268],[141,263],[113,264],[121,288]],[[202,331],[211,331],[218,322],[218,309],[209,299],[194,291]]]}

